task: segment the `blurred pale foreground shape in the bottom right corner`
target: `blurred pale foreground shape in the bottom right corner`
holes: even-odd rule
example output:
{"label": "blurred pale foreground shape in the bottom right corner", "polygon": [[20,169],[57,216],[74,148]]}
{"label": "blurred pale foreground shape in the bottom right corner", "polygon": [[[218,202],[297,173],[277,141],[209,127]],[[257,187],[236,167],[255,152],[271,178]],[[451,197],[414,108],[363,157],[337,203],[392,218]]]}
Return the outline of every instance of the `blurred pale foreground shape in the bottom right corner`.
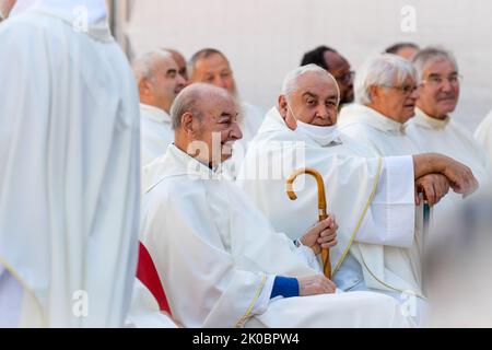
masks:
{"label": "blurred pale foreground shape in the bottom right corner", "polygon": [[492,327],[492,192],[440,223],[427,252],[429,327]]}

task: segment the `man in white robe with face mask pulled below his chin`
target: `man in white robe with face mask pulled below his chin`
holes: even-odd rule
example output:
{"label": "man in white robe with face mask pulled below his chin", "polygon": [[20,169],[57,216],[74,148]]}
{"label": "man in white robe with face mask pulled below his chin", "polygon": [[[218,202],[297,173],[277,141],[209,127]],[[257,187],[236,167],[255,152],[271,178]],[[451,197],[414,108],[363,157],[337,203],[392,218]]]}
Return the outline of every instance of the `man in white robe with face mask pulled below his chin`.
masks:
{"label": "man in white robe with face mask pulled below his chin", "polygon": [[[337,129],[339,91],[324,69],[309,65],[288,74],[277,107],[251,143],[237,184],[276,230],[297,238],[316,220],[318,190],[309,178],[290,201],[285,179],[297,168],[317,170],[325,180],[328,208],[340,226],[331,249],[333,281],[345,291],[386,292],[413,311],[420,276],[408,255],[414,242],[415,179],[435,184],[449,177],[468,192],[475,186],[462,165],[437,154],[375,156]],[[300,185],[303,185],[300,183]],[[400,295],[403,294],[403,295]]]}

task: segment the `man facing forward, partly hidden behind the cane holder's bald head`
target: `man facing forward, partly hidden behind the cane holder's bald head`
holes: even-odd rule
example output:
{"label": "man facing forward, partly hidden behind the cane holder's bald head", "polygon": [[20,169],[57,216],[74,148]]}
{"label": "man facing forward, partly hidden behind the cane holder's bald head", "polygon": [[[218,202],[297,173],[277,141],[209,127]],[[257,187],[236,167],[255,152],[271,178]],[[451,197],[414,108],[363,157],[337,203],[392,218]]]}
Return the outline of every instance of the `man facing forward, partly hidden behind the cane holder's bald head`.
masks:
{"label": "man facing forward, partly hidden behind the cane holder's bald head", "polygon": [[227,90],[236,100],[239,108],[239,126],[243,138],[235,142],[233,156],[224,165],[224,170],[233,178],[247,152],[248,143],[258,132],[265,113],[257,106],[241,101],[234,72],[225,55],[213,48],[204,48],[196,52],[188,63],[190,83],[208,83]]}

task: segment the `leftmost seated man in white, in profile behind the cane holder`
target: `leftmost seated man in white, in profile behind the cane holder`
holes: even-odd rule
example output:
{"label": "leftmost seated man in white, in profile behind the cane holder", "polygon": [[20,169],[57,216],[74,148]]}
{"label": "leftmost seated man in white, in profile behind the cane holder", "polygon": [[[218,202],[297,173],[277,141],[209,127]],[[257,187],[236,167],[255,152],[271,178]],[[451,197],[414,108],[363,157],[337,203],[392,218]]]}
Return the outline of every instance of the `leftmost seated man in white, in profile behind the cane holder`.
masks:
{"label": "leftmost seated man in white, in profile behind the cane holder", "polygon": [[140,93],[142,167],[163,155],[173,143],[169,110],[185,88],[185,79],[171,52],[153,50],[132,62]]}

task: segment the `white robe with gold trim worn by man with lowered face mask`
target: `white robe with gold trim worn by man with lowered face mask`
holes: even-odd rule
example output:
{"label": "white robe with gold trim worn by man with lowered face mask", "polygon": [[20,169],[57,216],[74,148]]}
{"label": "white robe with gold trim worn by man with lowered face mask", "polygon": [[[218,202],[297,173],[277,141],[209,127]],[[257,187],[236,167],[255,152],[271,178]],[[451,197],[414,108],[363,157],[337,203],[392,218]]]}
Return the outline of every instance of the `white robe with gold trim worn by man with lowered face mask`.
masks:
{"label": "white robe with gold trim worn by man with lowered face mask", "polygon": [[372,154],[338,131],[333,131],[331,142],[321,145],[291,130],[272,108],[236,183],[277,231],[295,240],[317,221],[318,191],[313,178],[303,184],[302,177],[297,180],[298,199],[291,201],[285,180],[297,168],[318,171],[325,180],[328,211],[339,225],[338,245],[330,249],[337,285],[352,290],[365,283],[378,291],[419,292],[412,269],[389,264],[395,252],[411,247],[413,242],[413,161],[410,156],[383,160]]}

